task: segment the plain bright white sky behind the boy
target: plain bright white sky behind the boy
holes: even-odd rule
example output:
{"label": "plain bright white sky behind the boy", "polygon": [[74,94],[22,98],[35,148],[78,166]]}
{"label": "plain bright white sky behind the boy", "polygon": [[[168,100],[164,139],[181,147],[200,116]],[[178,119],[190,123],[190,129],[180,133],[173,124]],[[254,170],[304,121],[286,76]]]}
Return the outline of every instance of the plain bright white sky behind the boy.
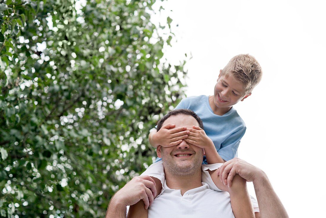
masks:
{"label": "plain bright white sky behind the boy", "polygon": [[193,57],[186,64],[187,96],[212,95],[219,70],[233,56],[256,57],[262,81],[234,106],[247,126],[239,157],[266,172],[290,217],[320,217],[326,205],[326,2],[160,4],[172,11],[153,22],[169,15],[177,39],[165,57],[175,64],[185,53]]}

